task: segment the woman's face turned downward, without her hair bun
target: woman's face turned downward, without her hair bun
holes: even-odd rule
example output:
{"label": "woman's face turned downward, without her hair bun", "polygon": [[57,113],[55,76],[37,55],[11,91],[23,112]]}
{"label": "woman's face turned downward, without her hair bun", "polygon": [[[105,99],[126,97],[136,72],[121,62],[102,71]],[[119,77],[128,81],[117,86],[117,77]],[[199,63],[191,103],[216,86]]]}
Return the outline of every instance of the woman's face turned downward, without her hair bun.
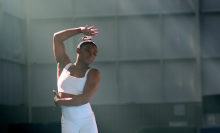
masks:
{"label": "woman's face turned downward, without her hair bun", "polygon": [[80,49],[77,49],[79,59],[86,64],[91,64],[97,55],[97,48],[94,44],[86,44]]}

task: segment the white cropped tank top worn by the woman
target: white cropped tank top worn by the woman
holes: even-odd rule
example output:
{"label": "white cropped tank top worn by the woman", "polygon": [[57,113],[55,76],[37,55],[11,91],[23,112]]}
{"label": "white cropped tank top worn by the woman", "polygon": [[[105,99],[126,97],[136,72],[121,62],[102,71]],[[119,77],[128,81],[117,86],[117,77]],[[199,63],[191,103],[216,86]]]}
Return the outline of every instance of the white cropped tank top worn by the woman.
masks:
{"label": "white cropped tank top worn by the woman", "polygon": [[82,78],[77,78],[68,74],[68,69],[72,63],[67,64],[57,80],[58,93],[64,92],[73,95],[79,95],[83,93],[83,88],[87,80],[87,74],[90,69],[85,73],[85,76]]}

